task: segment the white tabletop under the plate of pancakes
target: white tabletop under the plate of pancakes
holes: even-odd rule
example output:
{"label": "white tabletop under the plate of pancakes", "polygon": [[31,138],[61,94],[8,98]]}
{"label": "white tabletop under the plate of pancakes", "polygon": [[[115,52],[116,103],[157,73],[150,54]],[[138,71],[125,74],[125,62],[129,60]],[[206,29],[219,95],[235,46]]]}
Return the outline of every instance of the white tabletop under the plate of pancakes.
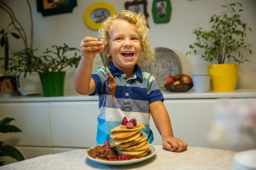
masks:
{"label": "white tabletop under the plate of pancakes", "polygon": [[181,153],[164,150],[156,145],[157,154],[138,164],[110,166],[87,159],[86,150],[39,156],[4,165],[1,170],[231,170],[236,152],[203,147],[188,147]]}

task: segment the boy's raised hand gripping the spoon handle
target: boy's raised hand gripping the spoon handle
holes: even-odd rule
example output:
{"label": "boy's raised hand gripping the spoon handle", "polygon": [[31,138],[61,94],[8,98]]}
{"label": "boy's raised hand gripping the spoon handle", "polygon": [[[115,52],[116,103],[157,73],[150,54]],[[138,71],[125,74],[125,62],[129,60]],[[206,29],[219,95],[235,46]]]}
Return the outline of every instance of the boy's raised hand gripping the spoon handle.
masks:
{"label": "boy's raised hand gripping the spoon handle", "polygon": [[93,37],[85,37],[80,44],[82,54],[85,59],[93,60],[95,59],[96,54],[99,54],[103,51],[104,40],[100,40]]}

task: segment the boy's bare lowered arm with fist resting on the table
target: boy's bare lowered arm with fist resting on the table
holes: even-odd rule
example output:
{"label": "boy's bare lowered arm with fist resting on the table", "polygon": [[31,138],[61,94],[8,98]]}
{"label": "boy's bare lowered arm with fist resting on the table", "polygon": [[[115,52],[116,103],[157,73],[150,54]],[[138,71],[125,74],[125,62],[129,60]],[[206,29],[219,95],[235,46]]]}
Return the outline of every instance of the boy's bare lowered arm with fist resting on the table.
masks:
{"label": "boy's bare lowered arm with fist resting on the table", "polygon": [[154,123],[162,136],[163,147],[175,152],[182,152],[187,148],[187,144],[174,137],[169,114],[161,100],[151,102],[149,110]]}

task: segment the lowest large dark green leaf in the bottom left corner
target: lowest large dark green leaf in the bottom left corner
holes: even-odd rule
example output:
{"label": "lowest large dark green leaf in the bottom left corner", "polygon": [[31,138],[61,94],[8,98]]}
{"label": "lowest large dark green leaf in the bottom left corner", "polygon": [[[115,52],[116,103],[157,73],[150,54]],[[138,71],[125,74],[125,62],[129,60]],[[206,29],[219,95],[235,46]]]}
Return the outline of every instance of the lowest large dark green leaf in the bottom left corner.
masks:
{"label": "lowest large dark green leaf in the bottom left corner", "polygon": [[4,156],[9,156],[17,161],[23,161],[24,157],[15,147],[4,145],[0,147],[0,152],[3,153]]}

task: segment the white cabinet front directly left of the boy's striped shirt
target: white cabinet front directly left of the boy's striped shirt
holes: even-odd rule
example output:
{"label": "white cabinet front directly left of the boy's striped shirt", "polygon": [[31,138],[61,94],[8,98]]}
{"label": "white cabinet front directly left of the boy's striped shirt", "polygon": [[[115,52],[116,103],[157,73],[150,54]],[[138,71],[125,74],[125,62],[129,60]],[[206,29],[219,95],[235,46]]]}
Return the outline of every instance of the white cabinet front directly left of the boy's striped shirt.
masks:
{"label": "white cabinet front directly left of the boy's striped shirt", "polygon": [[98,101],[50,102],[52,146],[96,145]]}

